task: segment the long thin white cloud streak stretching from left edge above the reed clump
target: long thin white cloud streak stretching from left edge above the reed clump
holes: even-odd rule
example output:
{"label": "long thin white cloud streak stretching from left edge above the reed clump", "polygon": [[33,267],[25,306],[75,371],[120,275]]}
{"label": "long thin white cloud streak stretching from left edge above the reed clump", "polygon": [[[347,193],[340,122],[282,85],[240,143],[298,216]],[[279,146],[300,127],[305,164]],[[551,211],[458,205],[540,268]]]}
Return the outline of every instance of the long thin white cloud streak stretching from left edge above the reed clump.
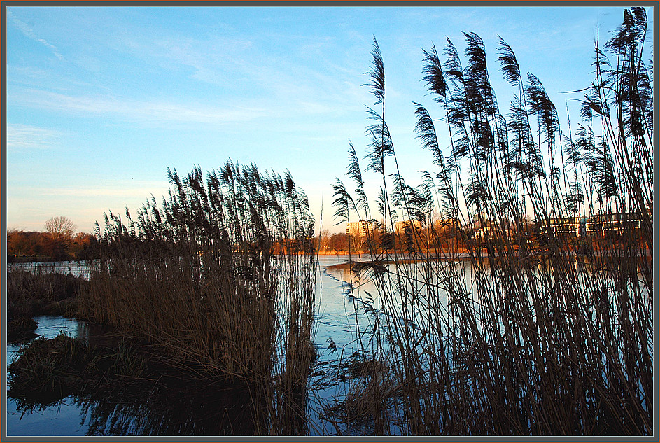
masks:
{"label": "long thin white cloud streak stretching from left edge above the reed clump", "polygon": [[71,96],[17,88],[8,92],[7,101],[50,111],[97,115],[134,122],[171,123],[197,122],[222,124],[258,118],[267,113],[265,108],[246,106],[212,106],[200,103],[178,104],[171,101],[144,101],[115,97]]}

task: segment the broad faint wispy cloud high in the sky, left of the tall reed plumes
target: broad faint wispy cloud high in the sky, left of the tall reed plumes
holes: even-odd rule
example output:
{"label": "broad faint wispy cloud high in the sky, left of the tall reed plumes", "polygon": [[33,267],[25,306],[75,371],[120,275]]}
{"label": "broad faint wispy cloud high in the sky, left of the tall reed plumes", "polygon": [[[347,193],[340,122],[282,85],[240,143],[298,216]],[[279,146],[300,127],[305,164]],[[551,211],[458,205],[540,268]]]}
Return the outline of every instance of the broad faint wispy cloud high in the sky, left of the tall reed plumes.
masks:
{"label": "broad faint wispy cloud high in the sky, left of the tall reed plumes", "polygon": [[[306,40],[302,36],[269,33],[250,38],[218,34],[200,38],[127,34],[122,47],[150,64],[187,72],[190,80],[220,87],[227,94],[236,94],[241,99],[258,96],[262,102],[271,100],[274,107],[286,106],[288,111],[296,112],[310,99],[339,99],[342,106],[349,103],[344,79],[355,73],[342,71],[342,64],[332,64],[328,59],[328,53],[338,49],[335,40],[335,37]],[[260,52],[263,48],[280,47],[290,51]],[[318,66],[310,65],[311,59]]]}

